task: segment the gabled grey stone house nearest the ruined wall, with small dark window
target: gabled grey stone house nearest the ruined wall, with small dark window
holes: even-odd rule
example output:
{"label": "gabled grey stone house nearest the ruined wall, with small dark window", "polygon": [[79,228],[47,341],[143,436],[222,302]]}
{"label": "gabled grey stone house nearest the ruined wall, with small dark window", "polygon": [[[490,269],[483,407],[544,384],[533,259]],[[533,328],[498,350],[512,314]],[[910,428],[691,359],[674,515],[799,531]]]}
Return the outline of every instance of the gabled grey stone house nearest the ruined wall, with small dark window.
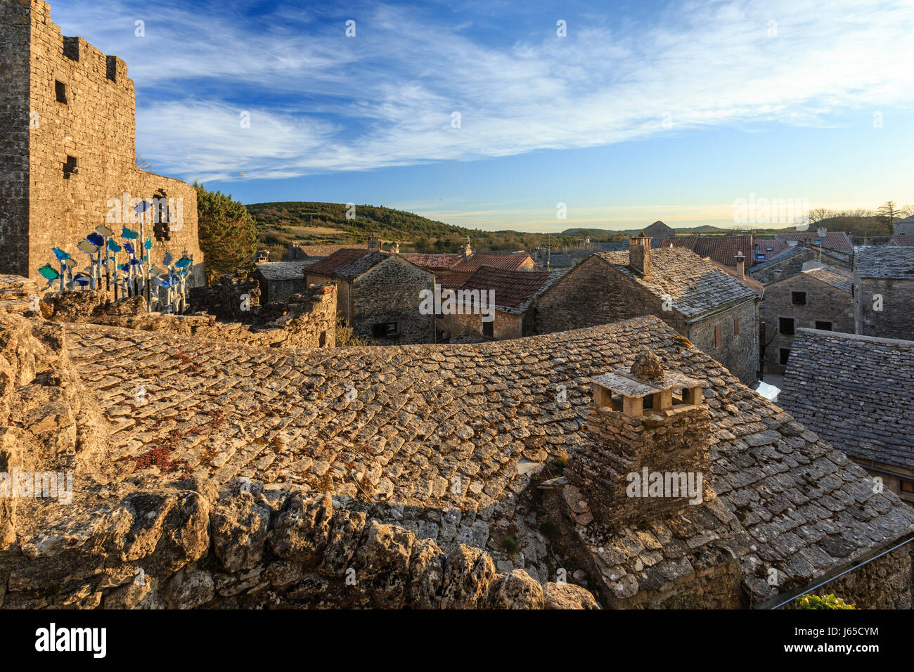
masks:
{"label": "gabled grey stone house nearest the ruined wall, with small dark window", "polygon": [[310,284],[336,285],[336,313],[356,336],[383,345],[430,343],[435,338],[435,315],[420,312],[423,291],[434,291],[433,273],[399,254],[380,251],[369,240],[368,250],[344,249],[305,269]]}

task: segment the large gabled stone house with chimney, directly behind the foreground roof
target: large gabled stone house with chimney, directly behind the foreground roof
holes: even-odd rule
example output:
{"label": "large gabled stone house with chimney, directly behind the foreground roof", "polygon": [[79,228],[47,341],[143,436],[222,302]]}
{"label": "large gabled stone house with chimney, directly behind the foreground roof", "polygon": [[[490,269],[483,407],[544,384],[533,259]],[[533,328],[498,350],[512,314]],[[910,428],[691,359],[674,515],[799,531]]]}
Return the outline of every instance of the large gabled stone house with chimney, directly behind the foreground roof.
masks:
{"label": "large gabled stone house with chimney, directly behind the foreground roof", "polygon": [[591,255],[535,302],[536,333],[656,315],[749,384],[759,369],[759,295],[685,248]]}

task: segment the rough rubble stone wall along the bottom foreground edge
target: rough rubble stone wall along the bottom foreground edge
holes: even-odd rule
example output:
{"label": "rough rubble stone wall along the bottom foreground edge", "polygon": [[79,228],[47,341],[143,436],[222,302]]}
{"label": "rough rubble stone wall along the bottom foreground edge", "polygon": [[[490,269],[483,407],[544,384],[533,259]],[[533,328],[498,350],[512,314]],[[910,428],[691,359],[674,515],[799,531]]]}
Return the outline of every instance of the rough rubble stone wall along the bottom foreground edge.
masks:
{"label": "rough rubble stone wall along the bottom foreground edge", "polygon": [[498,573],[464,545],[445,555],[324,493],[220,496],[189,479],[114,494],[0,553],[0,607],[599,608],[579,586]]}

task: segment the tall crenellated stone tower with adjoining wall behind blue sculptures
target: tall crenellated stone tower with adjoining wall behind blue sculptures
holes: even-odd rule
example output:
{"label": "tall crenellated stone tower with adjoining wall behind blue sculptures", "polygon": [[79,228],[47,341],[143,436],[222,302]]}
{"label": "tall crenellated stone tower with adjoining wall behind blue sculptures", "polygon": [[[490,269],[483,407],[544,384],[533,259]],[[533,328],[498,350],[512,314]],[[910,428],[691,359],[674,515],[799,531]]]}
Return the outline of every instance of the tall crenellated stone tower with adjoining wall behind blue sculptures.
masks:
{"label": "tall crenellated stone tower with adjoining wall behind blue sculptures", "polygon": [[0,46],[0,272],[40,279],[53,247],[76,256],[107,222],[151,237],[154,263],[186,251],[205,283],[196,190],[136,166],[126,64],[61,36],[42,0],[0,3]]}

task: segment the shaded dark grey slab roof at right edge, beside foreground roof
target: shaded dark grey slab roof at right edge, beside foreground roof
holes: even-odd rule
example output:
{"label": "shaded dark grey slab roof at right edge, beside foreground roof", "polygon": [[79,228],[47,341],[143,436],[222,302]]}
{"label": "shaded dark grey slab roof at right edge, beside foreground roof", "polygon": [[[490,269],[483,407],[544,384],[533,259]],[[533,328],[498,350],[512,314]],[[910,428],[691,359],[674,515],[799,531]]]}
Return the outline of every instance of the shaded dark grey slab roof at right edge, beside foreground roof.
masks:
{"label": "shaded dark grey slab roof at right edge, beside foreground roof", "polygon": [[914,469],[914,341],[797,329],[778,402],[851,457]]}

